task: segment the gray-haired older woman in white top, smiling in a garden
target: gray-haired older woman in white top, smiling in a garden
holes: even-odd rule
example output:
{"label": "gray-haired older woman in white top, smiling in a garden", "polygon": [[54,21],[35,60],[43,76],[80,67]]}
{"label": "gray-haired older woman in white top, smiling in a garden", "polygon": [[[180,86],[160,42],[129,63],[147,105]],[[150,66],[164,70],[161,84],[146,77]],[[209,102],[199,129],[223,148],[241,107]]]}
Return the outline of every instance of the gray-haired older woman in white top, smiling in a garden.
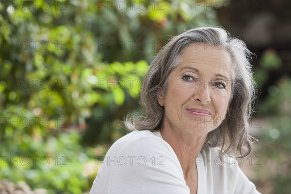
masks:
{"label": "gray-haired older woman in white top, smiling in a garden", "polygon": [[252,151],[254,82],[245,44],[221,28],[167,43],[146,74],[146,115],[108,150],[90,193],[254,194],[234,157]]}

